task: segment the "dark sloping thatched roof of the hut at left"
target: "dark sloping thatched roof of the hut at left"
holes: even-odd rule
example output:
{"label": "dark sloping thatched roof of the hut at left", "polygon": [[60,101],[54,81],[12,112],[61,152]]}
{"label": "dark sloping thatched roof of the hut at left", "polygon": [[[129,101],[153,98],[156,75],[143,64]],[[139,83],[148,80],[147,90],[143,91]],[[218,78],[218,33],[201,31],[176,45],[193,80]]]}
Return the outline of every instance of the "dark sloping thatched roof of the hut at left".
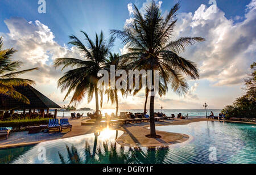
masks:
{"label": "dark sloping thatched roof of the hut at left", "polygon": [[61,109],[59,105],[48,99],[48,97],[44,96],[32,86],[15,87],[15,90],[26,96],[27,99],[30,100],[30,104],[24,104],[20,101],[0,94],[0,110]]}

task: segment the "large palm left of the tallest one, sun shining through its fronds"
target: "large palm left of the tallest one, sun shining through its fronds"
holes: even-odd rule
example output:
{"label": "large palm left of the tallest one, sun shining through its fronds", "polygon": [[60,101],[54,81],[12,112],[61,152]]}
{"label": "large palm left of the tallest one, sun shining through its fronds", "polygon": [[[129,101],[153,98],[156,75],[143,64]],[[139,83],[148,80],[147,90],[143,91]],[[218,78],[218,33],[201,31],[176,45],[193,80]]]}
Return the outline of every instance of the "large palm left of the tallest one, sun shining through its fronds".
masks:
{"label": "large palm left of the tallest one, sun shining through its fronds", "polygon": [[[109,56],[110,49],[113,47],[115,37],[111,36],[108,40],[104,39],[103,32],[101,31],[100,36],[96,33],[96,39],[93,41],[89,36],[81,31],[85,36],[86,45],[84,45],[76,36],[72,35],[69,38],[72,40],[69,44],[76,46],[82,57],[79,58],[57,58],[55,59],[55,67],[71,66],[75,67],[73,70],[65,72],[58,81],[58,87],[60,87],[61,92],[68,89],[64,100],[67,99],[68,95],[73,93],[70,103],[80,103],[82,98],[87,95],[88,103],[92,100],[93,93],[95,93],[96,99],[96,114],[98,117],[99,105],[98,105],[98,71],[104,69],[106,60]],[[63,70],[62,69],[62,70]],[[100,91],[102,99],[102,91]],[[101,100],[102,105],[102,100]]]}

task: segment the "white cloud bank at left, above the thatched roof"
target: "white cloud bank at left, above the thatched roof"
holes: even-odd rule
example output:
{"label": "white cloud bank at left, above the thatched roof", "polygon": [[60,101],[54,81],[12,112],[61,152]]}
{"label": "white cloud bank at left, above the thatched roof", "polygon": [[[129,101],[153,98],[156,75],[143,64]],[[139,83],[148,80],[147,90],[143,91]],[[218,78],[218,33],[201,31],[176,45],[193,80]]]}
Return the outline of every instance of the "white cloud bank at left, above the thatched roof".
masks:
{"label": "white cloud bank at left, above the thatched roof", "polygon": [[[57,80],[63,75],[60,69],[55,70],[53,61],[59,57],[79,58],[80,53],[75,48],[60,46],[54,40],[55,36],[47,25],[39,20],[28,22],[24,18],[10,18],[5,20],[9,33],[1,33],[4,47],[18,50],[14,60],[24,63],[21,70],[39,67],[39,70],[28,72],[21,77],[35,80],[36,88],[60,105],[64,99],[57,89]],[[66,101],[65,104],[69,103]]]}

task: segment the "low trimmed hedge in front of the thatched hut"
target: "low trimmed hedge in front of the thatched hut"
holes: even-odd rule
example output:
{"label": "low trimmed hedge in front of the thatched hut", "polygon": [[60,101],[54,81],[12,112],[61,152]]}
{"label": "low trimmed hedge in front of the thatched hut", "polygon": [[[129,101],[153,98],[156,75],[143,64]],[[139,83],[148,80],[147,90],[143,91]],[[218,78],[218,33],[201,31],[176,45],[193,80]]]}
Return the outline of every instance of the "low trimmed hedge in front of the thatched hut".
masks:
{"label": "low trimmed hedge in front of the thatched hut", "polygon": [[13,127],[20,129],[28,126],[48,125],[50,118],[35,118],[35,119],[15,119],[11,121],[0,121],[0,127]]}

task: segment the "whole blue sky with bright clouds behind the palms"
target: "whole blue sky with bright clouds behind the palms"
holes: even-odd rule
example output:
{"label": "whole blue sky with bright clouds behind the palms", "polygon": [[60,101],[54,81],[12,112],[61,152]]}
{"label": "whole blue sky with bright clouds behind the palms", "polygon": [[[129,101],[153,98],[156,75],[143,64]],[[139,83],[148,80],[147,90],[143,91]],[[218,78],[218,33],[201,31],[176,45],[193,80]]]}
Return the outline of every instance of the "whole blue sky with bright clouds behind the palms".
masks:
{"label": "whole blue sky with bright clouds behind the palms", "polygon": [[[60,57],[80,58],[79,50],[69,45],[69,35],[81,40],[81,30],[90,37],[110,29],[122,29],[132,17],[133,5],[143,13],[152,0],[45,0],[46,13],[38,12],[38,0],[1,0],[0,36],[4,48],[15,48],[14,59],[24,62],[22,69],[39,67],[24,78],[35,80],[35,88],[60,106],[68,105],[71,96],[63,101],[65,92],[57,88],[57,80],[64,71],[54,69],[52,62]],[[176,0],[155,0],[163,16]],[[193,45],[181,54],[196,62],[200,79],[188,79],[189,91],[185,96],[168,91],[155,98],[155,108],[221,109],[241,96],[243,78],[256,61],[256,0],[195,0],[180,2],[173,39],[181,36],[204,37],[206,41]],[[216,3],[215,3],[216,2]],[[214,4],[217,8],[214,8]],[[115,53],[126,53],[120,40],[115,41]],[[88,104],[87,97],[77,108],[95,109],[95,100]],[[142,109],[144,92],[123,98],[119,94],[119,108]],[[149,105],[149,101],[148,101]],[[104,109],[114,109],[104,98]]]}

